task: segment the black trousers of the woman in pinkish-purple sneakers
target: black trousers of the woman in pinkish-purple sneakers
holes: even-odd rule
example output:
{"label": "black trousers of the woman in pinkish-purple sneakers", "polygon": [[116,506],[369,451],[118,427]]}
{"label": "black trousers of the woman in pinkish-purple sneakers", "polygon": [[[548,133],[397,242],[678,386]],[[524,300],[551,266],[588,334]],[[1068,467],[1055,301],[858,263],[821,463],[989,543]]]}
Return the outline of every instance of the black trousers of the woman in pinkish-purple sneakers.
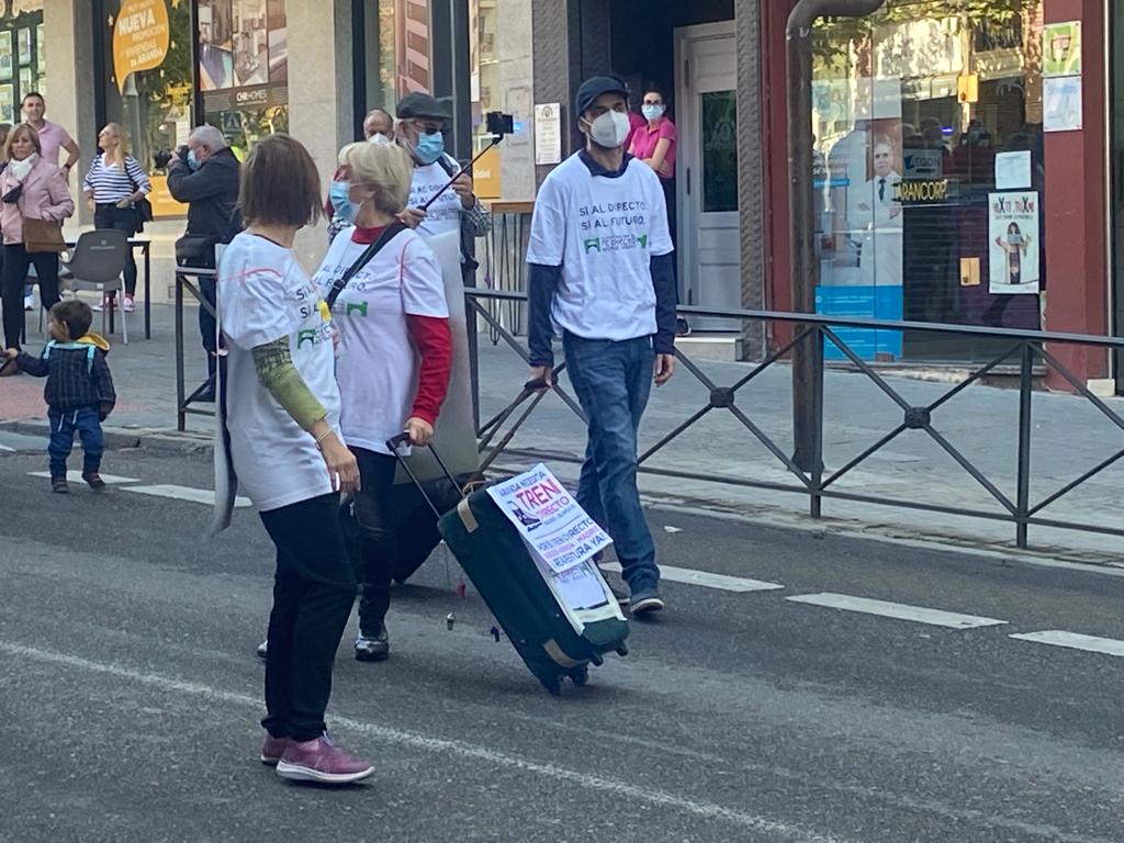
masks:
{"label": "black trousers of the woman in pinkish-purple sneakers", "polygon": [[278,549],[262,720],[274,737],[311,741],[326,727],[332,664],[355,601],[338,509],[337,495],[321,495],[261,514]]}

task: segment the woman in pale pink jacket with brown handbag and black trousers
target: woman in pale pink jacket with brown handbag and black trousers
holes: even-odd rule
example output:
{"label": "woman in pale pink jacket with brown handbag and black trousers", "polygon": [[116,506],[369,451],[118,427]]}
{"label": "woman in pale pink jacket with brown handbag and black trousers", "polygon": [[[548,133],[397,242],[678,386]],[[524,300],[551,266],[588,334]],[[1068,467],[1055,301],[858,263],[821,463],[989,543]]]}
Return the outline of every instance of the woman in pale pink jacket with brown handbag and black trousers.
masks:
{"label": "woman in pale pink jacket with brown handbag and black trousers", "polygon": [[8,162],[0,173],[0,229],[3,230],[3,270],[0,291],[3,296],[3,333],[9,348],[18,348],[24,333],[24,282],[28,264],[39,277],[39,299],[49,310],[58,301],[58,255],[54,252],[28,252],[24,247],[24,219],[62,223],[74,212],[74,200],[66,179],[56,165],[40,155],[39,136],[27,124],[8,135],[3,146]]}

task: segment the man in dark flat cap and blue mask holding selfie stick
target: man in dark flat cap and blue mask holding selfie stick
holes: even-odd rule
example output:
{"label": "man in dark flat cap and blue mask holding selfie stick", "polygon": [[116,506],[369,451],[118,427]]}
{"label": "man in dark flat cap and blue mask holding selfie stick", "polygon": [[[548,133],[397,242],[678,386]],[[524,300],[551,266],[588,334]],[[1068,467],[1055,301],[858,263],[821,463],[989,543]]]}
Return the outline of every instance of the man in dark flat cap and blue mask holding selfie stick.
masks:
{"label": "man in dark flat cap and blue mask holding selfie stick", "polygon": [[[491,218],[472,192],[469,173],[461,173],[451,188],[437,194],[461,169],[456,158],[445,152],[444,132],[453,117],[448,107],[427,93],[415,92],[398,101],[396,114],[398,142],[414,158],[414,181],[402,220],[423,237],[462,230],[462,241],[482,237],[491,228]],[[434,196],[437,199],[428,210],[420,210]],[[466,246],[462,245],[465,259]]]}

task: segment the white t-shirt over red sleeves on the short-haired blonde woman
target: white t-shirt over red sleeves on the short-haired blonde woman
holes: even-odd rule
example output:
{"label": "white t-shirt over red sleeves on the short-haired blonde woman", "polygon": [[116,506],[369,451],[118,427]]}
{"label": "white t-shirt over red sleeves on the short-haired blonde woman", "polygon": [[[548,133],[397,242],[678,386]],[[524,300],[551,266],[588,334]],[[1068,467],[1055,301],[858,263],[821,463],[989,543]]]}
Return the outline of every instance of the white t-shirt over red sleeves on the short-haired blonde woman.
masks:
{"label": "white t-shirt over red sleeves on the short-haired blonde woman", "polygon": [[[332,242],[316,273],[321,296],[366,248],[352,241],[354,230],[348,226]],[[416,232],[397,234],[343,289],[332,316],[339,329],[344,442],[390,454],[386,442],[402,432],[418,382],[407,316],[448,318],[437,256]]]}

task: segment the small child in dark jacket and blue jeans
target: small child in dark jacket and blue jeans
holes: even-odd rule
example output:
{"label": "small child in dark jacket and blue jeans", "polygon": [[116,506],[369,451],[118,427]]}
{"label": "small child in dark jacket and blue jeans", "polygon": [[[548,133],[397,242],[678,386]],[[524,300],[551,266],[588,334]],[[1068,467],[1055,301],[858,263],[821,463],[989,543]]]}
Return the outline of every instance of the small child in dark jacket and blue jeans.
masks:
{"label": "small child in dark jacket and blue jeans", "polygon": [[82,439],[82,479],[94,491],[106,488],[98,473],[101,469],[101,423],[114,409],[117,395],[109,374],[106,354],[109,343],[91,334],[93,314],[90,306],[78,299],[60,301],[51,308],[47,330],[51,342],[43,354],[8,348],[4,357],[15,360],[20,371],[46,378],[43,397],[51,420],[51,490],[65,495],[66,457],[74,447],[74,433]]}

